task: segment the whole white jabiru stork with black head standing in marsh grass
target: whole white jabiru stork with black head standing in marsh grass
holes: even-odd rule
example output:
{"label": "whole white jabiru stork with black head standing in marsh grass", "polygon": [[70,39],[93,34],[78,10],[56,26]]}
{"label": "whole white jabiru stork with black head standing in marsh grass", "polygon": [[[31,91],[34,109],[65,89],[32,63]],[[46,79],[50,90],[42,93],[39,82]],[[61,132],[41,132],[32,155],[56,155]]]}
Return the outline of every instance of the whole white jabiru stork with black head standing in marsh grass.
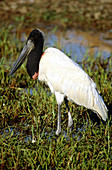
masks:
{"label": "whole white jabiru stork with black head standing in marsh grass", "polygon": [[55,94],[58,104],[56,135],[61,133],[61,104],[64,100],[68,110],[68,127],[73,124],[68,100],[91,109],[106,121],[108,110],[93,80],[60,50],[49,47],[43,52],[44,39],[44,33],[40,29],[30,32],[9,75],[12,75],[28,56],[26,68],[29,76],[33,80],[45,82]]}

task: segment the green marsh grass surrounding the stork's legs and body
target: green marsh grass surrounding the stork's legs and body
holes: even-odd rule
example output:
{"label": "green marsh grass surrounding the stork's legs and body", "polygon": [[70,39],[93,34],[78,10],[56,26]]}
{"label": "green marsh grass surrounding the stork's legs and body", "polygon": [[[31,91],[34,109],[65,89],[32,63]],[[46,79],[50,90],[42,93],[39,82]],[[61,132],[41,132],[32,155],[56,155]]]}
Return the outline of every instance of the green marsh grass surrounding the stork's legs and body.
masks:
{"label": "green marsh grass surrounding the stork's legs and body", "polygon": [[[109,169],[112,165],[112,60],[85,56],[81,65],[96,82],[108,109],[104,123],[84,107],[69,103],[73,130],[69,133],[65,104],[62,133],[55,135],[55,96],[41,82],[32,81],[23,65],[8,77],[18,56],[10,29],[0,36],[0,169]],[[8,40],[8,41],[7,41]],[[10,43],[9,43],[10,42]]]}

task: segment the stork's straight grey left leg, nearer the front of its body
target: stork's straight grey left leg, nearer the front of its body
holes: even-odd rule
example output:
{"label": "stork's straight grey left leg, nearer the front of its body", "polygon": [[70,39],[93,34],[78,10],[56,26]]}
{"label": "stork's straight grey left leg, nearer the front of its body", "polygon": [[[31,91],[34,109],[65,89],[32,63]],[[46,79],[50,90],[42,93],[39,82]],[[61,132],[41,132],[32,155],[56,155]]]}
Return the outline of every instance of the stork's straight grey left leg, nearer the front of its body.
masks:
{"label": "stork's straight grey left leg, nearer the front of its body", "polygon": [[58,104],[58,120],[57,120],[57,130],[56,135],[59,135],[61,133],[61,105]]}

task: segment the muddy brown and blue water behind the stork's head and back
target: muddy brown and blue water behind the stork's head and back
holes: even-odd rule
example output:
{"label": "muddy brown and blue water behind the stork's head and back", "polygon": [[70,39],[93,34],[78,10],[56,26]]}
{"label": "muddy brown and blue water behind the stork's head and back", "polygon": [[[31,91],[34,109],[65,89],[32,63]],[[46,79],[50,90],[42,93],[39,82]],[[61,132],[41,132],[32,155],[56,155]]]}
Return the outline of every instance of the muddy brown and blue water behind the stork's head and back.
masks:
{"label": "muddy brown and blue water behind the stork's head and back", "polygon": [[[102,58],[111,56],[112,39],[105,40],[107,35],[104,33],[83,32],[76,30],[47,30],[40,28],[45,33],[45,48],[57,47],[80,62],[84,56],[95,57],[101,55]],[[23,30],[21,41],[25,41],[28,32]]]}

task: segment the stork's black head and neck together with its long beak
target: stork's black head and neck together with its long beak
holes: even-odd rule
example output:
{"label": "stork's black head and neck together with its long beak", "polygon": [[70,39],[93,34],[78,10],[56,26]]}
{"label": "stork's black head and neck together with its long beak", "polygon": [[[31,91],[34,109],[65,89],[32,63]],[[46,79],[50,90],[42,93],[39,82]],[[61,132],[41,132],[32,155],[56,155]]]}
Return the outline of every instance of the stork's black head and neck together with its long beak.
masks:
{"label": "stork's black head and neck together with its long beak", "polygon": [[32,77],[35,72],[37,73],[39,69],[39,61],[43,51],[43,44],[44,33],[41,30],[34,29],[30,32],[26,45],[24,46],[9,75],[12,75],[23,64],[27,56],[28,60],[26,67],[28,74]]}

